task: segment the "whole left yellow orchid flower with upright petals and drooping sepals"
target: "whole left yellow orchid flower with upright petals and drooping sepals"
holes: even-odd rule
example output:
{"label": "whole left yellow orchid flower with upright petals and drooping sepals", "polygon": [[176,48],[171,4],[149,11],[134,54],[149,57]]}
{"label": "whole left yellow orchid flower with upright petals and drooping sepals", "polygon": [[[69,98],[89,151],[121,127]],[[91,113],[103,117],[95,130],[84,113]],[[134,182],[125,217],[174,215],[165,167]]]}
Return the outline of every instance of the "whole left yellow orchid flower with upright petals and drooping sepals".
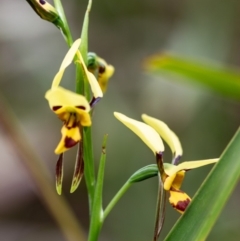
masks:
{"label": "whole left yellow orchid flower with upright petals and drooping sepals", "polygon": [[103,96],[95,76],[87,70],[81,53],[78,50],[80,44],[81,39],[77,39],[72,44],[71,48],[62,61],[59,71],[53,79],[51,89],[48,90],[45,94],[45,98],[48,100],[50,109],[63,122],[61,129],[62,137],[55,149],[55,153],[59,155],[59,159],[56,165],[56,188],[58,194],[61,194],[62,191],[63,153],[78,143],[78,154],[70,192],[74,192],[80,183],[84,171],[81,133],[84,126],[91,125],[91,106],[85,96],[59,86],[64,71],[72,63],[74,56],[76,56],[77,59],[76,63],[81,65],[83,73],[87,77],[88,83],[93,93],[93,97],[95,99],[100,99]]}

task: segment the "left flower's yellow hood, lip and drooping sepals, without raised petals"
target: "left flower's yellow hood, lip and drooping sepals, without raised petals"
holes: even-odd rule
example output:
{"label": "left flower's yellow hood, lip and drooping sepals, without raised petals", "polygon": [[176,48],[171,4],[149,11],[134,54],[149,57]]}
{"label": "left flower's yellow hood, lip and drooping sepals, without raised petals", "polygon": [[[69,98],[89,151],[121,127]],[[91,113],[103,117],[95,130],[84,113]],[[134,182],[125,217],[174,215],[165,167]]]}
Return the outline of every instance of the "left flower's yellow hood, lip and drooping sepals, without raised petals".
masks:
{"label": "left flower's yellow hood, lip and drooping sepals, without raised petals", "polygon": [[[51,110],[63,121],[63,127],[61,129],[62,138],[55,149],[55,153],[59,154],[59,159],[56,164],[56,189],[60,195],[63,180],[63,153],[80,142],[81,127],[91,125],[91,117],[89,114],[91,108],[84,96],[60,86],[48,90],[45,98],[48,100]],[[77,189],[83,172],[84,161],[82,148],[81,145],[79,145],[70,190],[71,193]]]}

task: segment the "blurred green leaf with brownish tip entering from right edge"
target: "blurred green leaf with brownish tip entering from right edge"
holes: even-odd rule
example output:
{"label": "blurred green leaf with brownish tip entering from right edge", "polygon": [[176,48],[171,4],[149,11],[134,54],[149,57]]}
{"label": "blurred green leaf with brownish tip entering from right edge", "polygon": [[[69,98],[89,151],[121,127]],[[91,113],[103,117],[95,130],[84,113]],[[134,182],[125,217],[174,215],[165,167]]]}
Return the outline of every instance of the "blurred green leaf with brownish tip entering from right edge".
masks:
{"label": "blurred green leaf with brownish tip entering from right edge", "polygon": [[146,70],[176,74],[190,83],[202,84],[226,97],[240,100],[240,70],[191,61],[183,57],[162,54],[146,60]]}

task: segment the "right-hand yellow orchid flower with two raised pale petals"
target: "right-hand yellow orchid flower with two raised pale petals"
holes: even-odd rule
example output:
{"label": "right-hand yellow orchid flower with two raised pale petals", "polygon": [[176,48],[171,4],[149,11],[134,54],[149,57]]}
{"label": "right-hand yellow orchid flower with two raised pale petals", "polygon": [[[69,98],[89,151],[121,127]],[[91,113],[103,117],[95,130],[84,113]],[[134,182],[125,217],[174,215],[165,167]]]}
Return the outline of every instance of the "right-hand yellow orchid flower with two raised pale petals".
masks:
{"label": "right-hand yellow orchid flower with two raised pale petals", "polygon": [[[119,121],[138,135],[154,152],[157,158],[163,188],[170,194],[169,202],[174,209],[183,213],[191,201],[191,198],[185,192],[180,190],[185,172],[194,168],[216,163],[219,159],[189,161],[176,165],[182,155],[181,143],[176,134],[169,129],[164,122],[145,114],[142,115],[142,118],[147,124],[131,119],[121,113],[114,112],[114,115]],[[162,152],[164,147],[160,148],[159,143],[156,144],[156,140],[158,140],[156,135],[158,134],[172,150],[174,155],[173,164],[162,162]]]}

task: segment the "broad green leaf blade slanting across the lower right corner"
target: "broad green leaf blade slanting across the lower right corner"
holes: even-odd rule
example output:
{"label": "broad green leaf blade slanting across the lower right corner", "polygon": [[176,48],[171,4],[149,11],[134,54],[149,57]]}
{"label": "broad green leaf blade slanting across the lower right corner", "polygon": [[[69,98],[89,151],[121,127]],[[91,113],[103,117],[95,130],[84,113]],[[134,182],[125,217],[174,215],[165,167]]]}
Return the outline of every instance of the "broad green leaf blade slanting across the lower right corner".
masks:
{"label": "broad green leaf blade slanting across the lower right corner", "polygon": [[240,177],[240,129],[165,241],[205,240]]}

